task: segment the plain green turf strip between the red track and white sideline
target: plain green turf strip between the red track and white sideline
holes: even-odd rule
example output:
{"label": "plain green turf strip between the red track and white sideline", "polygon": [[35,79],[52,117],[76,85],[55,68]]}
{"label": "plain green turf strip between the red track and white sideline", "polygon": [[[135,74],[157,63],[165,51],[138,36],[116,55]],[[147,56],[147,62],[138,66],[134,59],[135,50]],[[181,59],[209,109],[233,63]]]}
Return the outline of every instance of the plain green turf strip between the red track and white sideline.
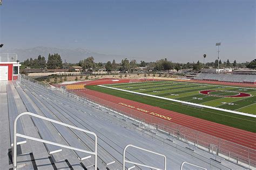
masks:
{"label": "plain green turf strip between the red track and white sideline", "polygon": [[[115,84],[115,85],[118,86],[118,84]],[[136,86],[136,83],[129,84],[129,87],[130,87],[130,85]],[[140,84],[140,85],[142,85],[142,84]],[[152,85],[154,85],[154,84],[152,84]],[[119,84],[119,86],[125,87],[124,84]],[[111,86],[111,87],[114,87],[114,86]],[[142,86],[140,86],[140,87],[143,88]],[[167,109],[167,110],[171,110],[171,111],[176,111],[181,114],[205,119],[207,121],[232,126],[234,128],[239,128],[239,129],[243,129],[243,130],[247,130],[247,131],[251,131],[251,132],[256,132],[256,118],[253,118],[253,117],[237,115],[237,114],[232,114],[229,112],[207,109],[207,108],[199,109],[199,108],[187,107],[187,106],[185,106],[181,103],[177,103],[177,102],[162,100],[162,99],[154,98],[154,97],[132,94],[132,93],[125,92],[125,91],[108,89],[108,88],[99,87],[99,86],[87,86],[86,88],[91,89],[91,90],[96,90],[96,91],[99,91],[102,93],[126,98],[128,100],[153,105],[155,107],[159,107],[159,108],[163,108],[163,109]],[[216,87],[214,86],[214,88],[217,88],[217,86]],[[187,91],[187,92],[191,93],[191,91]],[[197,95],[199,95],[199,94],[197,93]],[[214,98],[212,101],[214,101]]]}

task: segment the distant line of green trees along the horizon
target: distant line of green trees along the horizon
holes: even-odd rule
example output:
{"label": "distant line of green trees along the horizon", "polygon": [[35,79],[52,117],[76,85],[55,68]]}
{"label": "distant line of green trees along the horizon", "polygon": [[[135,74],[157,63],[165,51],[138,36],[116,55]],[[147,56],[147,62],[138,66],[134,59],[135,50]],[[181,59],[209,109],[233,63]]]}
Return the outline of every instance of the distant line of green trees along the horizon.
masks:
{"label": "distant line of green trees along the horizon", "polygon": [[[194,62],[187,62],[187,63],[175,63],[172,61],[167,60],[167,58],[163,58],[153,62],[145,62],[140,61],[137,62],[136,60],[132,59],[129,60],[127,58],[122,59],[120,63],[116,63],[116,60],[107,61],[106,63],[103,62],[95,62],[93,56],[89,56],[84,60],[80,60],[79,63],[69,64],[69,66],[80,66],[83,68],[84,72],[97,72],[98,70],[106,70],[106,72],[113,72],[113,71],[120,71],[124,73],[134,73],[136,70],[139,71],[140,69],[151,71],[151,72],[163,72],[169,70],[179,70],[181,69],[193,69],[200,72],[203,68],[252,68],[256,69],[256,59],[251,62],[244,62],[244,63],[237,63],[236,60],[230,62],[215,60],[214,62],[207,62],[201,63],[199,60]],[[57,68],[64,68],[62,58],[58,53],[48,55],[48,60],[46,61],[44,56],[38,55],[36,59],[27,59],[22,63],[23,68],[41,68],[41,69],[57,69]]]}

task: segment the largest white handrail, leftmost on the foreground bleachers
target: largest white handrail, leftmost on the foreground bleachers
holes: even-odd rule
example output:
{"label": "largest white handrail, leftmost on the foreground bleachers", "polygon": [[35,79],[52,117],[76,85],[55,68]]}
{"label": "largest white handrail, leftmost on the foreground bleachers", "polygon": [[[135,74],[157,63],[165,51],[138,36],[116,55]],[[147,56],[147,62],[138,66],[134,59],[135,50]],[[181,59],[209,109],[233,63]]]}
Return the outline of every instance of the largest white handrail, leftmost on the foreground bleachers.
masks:
{"label": "largest white handrail, leftmost on the foreground bleachers", "polygon": [[[60,125],[72,128],[72,129],[76,129],[76,130],[79,130],[79,131],[83,131],[85,133],[92,134],[93,136],[95,136],[95,152],[86,151],[86,150],[82,150],[80,148],[76,148],[76,147],[72,147],[72,146],[68,146],[68,145],[62,145],[62,144],[54,143],[52,141],[33,138],[33,137],[30,137],[30,136],[26,136],[24,134],[17,133],[17,121],[18,121],[18,118],[23,116],[23,115],[34,116],[34,117],[41,118],[41,119],[44,119],[44,120],[49,121],[49,122],[57,123],[57,124],[60,124]],[[97,135],[95,133],[91,132],[91,131],[87,131],[87,130],[84,130],[84,129],[81,129],[81,128],[77,128],[76,126],[72,126],[72,125],[69,125],[69,124],[58,122],[58,121],[55,121],[55,120],[47,118],[47,117],[32,114],[31,112],[23,112],[22,114],[19,114],[14,120],[14,170],[17,169],[17,137],[36,140],[36,141],[40,141],[40,142],[46,143],[46,144],[51,144],[51,145],[55,145],[55,146],[69,148],[71,150],[76,150],[76,151],[80,151],[80,152],[84,152],[84,153],[93,154],[93,155],[95,155],[95,170],[97,170]]]}

